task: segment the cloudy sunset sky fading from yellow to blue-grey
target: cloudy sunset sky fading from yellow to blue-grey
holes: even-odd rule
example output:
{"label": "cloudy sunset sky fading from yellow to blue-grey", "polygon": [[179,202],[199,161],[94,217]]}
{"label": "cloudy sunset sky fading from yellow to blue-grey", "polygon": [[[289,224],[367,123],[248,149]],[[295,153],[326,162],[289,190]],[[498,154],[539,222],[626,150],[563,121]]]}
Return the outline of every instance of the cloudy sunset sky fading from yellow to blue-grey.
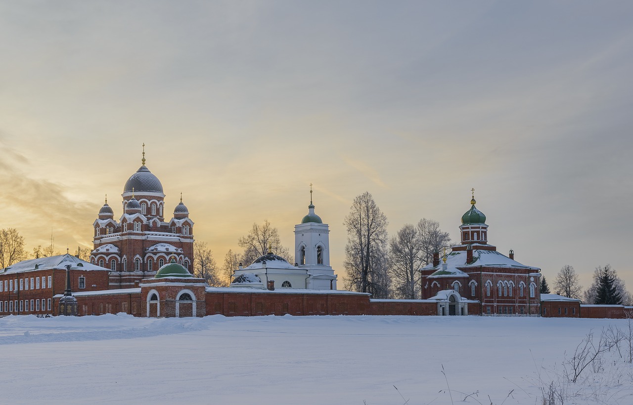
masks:
{"label": "cloudy sunset sky fading from yellow to blue-grey", "polygon": [[[141,165],[216,260],[268,219],[284,245],[365,191],[584,287],[633,289],[633,3],[0,0],[0,228],[92,247]],[[71,253],[72,253],[71,251]],[[341,284],[342,286],[342,284]]]}

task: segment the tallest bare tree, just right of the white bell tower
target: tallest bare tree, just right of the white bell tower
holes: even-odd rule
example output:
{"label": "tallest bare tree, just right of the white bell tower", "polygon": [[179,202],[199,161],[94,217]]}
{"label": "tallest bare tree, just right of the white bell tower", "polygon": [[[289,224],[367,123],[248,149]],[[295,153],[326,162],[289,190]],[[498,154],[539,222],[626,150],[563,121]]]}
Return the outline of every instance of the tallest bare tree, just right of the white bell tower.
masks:
{"label": "tallest bare tree, just right of the white bell tower", "polygon": [[389,222],[368,191],[354,198],[343,224],[348,229],[344,262],[346,287],[374,296],[388,296],[386,245]]}

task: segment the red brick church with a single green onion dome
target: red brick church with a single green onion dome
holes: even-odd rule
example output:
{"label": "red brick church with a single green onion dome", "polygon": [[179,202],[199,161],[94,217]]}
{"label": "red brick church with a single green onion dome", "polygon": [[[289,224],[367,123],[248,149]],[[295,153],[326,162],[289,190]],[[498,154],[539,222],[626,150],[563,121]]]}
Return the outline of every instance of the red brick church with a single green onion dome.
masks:
{"label": "red brick church with a single green onion dome", "polygon": [[[454,289],[463,298],[480,301],[482,314],[537,314],[540,312],[540,270],[499,253],[488,243],[486,215],[470,200],[461,217],[461,244],[422,269],[422,299]],[[454,314],[451,314],[454,315]],[[474,315],[474,314],[473,314]]]}

